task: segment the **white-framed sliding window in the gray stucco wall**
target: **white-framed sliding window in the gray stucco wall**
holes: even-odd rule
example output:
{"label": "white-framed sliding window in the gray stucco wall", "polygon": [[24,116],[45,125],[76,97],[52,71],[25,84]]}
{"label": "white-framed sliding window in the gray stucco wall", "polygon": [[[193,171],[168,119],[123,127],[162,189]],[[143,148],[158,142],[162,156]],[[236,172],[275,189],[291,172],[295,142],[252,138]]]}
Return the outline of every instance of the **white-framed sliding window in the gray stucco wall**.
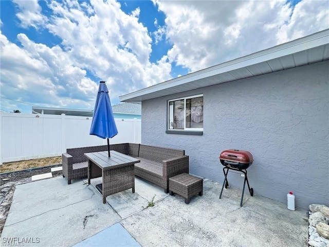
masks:
{"label": "white-framed sliding window in the gray stucco wall", "polygon": [[203,131],[204,97],[192,97],[169,100],[169,130]]}

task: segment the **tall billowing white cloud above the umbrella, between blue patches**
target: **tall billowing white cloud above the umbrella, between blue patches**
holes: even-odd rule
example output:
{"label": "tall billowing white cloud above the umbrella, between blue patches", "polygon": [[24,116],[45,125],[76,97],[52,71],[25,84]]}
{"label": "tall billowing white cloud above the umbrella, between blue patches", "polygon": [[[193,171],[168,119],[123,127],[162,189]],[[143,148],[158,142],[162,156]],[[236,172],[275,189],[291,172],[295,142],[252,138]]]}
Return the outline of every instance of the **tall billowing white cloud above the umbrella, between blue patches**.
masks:
{"label": "tall billowing white cloud above the umbrella, between blue patches", "polygon": [[[126,15],[116,2],[91,1],[90,4],[94,9],[94,15],[90,16],[58,2],[50,5],[58,15],[47,27],[70,47],[70,57],[80,67],[106,79],[114,86],[116,97],[158,83],[159,78],[170,78],[170,69],[165,69],[150,81],[152,77],[148,74],[154,66],[163,63],[149,62],[152,39],[147,28],[138,22],[139,8]],[[67,28],[63,30],[62,26]],[[165,67],[171,68],[168,65]]]}

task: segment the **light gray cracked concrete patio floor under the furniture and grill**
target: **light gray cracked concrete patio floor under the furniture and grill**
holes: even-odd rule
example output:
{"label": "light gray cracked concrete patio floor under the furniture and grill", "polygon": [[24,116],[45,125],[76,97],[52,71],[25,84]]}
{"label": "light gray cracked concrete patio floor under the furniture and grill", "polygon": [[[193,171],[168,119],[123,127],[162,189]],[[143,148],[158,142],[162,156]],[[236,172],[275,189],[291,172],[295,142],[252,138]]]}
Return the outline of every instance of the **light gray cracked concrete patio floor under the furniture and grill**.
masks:
{"label": "light gray cracked concrete patio floor under the furniture and grill", "polygon": [[[100,182],[67,185],[56,177],[17,185],[2,246],[9,238],[24,246],[307,246],[306,210],[290,211],[248,190],[240,207],[241,190],[228,187],[219,199],[222,185],[205,180],[203,196],[187,205],[136,178],[135,193],[116,193],[103,204]],[[143,209],[154,195],[155,206]]]}

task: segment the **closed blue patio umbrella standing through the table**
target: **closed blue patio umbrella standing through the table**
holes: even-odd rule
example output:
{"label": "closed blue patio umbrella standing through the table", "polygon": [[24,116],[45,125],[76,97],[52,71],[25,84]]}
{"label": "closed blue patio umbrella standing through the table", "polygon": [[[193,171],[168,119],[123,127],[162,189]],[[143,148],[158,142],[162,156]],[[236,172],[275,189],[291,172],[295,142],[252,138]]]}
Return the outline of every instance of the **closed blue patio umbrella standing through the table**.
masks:
{"label": "closed blue patio umbrella standing through the table", "polygon": [[111,101],[108,96],[108,89],[105,81],[99,83],[98,94],[93,114],[92,127],[90,127],[90,135],[96,135],[100,138],[107,138],[107,150],[109,154],[109,140],[118,134],[117,126],[111,107]]}

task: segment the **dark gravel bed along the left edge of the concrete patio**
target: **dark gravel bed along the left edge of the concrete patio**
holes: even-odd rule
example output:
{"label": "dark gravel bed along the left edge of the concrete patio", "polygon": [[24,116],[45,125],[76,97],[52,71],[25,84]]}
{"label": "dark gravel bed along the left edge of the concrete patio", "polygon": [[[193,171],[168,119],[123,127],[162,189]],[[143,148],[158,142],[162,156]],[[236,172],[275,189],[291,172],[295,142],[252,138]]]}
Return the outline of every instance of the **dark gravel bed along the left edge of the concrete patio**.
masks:
{"label": "dark gravel bed along the left edge of the concrete patio", "polygon": [[[5,222],[9,213],[11,201],[14,195],[15,186],[19,184],[30,183],[33,175],[51,172],[51,168],[62,166],[52,165],[46,167],[38,167],[26,169],[22,171],[0,173],[0,235],[5,226]],[[52,177],[61,176],[62,171],[52,172]]]}

